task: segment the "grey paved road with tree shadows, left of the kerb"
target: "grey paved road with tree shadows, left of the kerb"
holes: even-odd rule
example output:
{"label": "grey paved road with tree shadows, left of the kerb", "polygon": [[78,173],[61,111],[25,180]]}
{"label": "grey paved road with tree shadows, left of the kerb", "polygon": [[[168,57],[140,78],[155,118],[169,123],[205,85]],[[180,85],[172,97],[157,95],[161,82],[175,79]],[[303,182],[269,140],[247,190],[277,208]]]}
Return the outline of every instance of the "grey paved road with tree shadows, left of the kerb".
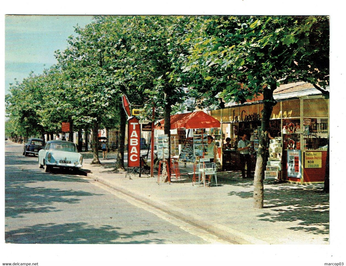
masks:
{"label": "grey paved road with tree shadows, left of the kerb", "polygon": [[[170,222],[169,222],[170,221]],[[198,229],[82,175],[45,173],[22,146],[5,145],[7,243],[215,243]]]}

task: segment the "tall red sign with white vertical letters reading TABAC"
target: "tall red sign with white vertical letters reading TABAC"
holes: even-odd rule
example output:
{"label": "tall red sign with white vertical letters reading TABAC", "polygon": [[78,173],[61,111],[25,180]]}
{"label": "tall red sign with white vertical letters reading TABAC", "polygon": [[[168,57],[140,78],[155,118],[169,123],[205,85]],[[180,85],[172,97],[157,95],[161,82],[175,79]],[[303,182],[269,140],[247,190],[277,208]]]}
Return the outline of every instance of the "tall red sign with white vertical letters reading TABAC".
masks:
{"label": "tall red sign with white vertical letters reading TABAC", "polygon": [[139,167],[140,124],[136,117],[128,120],[128,167]]}

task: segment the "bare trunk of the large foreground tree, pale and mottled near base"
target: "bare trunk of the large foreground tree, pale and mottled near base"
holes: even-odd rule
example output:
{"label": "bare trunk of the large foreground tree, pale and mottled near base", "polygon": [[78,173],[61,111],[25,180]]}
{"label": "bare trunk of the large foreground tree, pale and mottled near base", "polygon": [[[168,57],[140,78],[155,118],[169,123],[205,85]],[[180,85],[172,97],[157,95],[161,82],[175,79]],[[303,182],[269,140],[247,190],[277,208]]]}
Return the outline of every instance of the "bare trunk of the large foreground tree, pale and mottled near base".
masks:
{"label": "bare trunk of the large foreground tree, pale and mottled near base", "polygon": [[263,110],[261,121],[261,136],[257,150],[257,160],[254,177],[254,207],[257,209],[263,208],[264,199],[264,170],[267,161],[266,149],[268,146],[268,130],[269,120],[272,115],[273,106],[276,104],[273,98],[273,91],[276,89],[276,82],[270,84],[270,88],[265,88],[263,91]]}

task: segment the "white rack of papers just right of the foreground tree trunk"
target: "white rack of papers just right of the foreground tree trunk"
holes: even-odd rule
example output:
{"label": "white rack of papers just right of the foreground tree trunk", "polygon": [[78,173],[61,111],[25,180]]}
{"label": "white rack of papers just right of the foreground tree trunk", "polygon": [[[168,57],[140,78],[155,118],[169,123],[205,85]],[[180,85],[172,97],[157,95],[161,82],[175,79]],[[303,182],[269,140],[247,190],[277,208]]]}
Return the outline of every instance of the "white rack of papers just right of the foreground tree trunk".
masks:
{"label": "white rack of papers just right of the foreground tree trunk", "polygon": [[264,174],[264,179],[281,178],[282,137],[270,140],[269,157]]}

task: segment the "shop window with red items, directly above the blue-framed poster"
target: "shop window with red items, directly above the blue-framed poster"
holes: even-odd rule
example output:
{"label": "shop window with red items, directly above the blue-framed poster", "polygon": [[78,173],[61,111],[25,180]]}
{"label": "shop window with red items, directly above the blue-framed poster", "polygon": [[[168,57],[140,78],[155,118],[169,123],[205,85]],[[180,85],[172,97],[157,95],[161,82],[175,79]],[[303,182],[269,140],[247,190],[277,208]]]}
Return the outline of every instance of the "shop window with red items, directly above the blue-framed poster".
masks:
{"label": "shop window with red items, directly above the blue-framed poster", "polygon": [[282,140],[284,150],[300,150],[300,119],[282,119]]}

